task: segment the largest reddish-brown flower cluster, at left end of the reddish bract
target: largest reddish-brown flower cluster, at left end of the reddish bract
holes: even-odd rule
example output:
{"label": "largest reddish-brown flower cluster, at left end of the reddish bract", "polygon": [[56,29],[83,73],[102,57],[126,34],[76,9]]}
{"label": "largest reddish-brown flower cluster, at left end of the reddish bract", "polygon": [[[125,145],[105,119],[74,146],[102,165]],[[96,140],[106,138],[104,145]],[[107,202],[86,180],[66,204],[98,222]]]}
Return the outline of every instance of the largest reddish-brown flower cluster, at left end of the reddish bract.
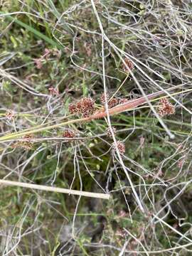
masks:
{"label": "largest reddish-brown flower cluster, at left end of the reddish bract", "polygon": [[68,107],[70,114],[82,114],[82,117],[90,117],[95,112],[95,100],[91,97],[82,97],[76,104]]}

